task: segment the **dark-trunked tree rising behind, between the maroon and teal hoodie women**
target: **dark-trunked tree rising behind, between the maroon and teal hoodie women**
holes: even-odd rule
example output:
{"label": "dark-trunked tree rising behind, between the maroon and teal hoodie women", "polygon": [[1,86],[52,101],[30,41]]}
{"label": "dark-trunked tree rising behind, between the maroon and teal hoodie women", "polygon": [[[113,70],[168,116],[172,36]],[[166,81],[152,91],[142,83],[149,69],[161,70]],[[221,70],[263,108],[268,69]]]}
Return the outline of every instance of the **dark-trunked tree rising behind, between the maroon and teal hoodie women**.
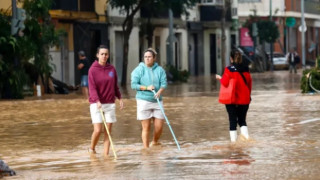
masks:
{"label": "dark-trunked tree rising behind, between the maroon and teal hoodie women", "polygon": [[[141,9],[142,6],[148,7],[159,7],[160,9],[169,9],[172,8],[175,13],[178,14],[187,14],[187,8],[193,6],[197,0],[109,0],[107,3],[110,3],[112,8],[119,8],[120,11],[123,11],[126,15],[125,20],[122,23],[122,30],[124,36],[123,42],[123,65],[122,65],[122,79],[121,86],[125,86],[127,82],[127,66],[128,66],[128,52],[129,52],[129,37],[133,29],[133,20],[136,13]],[[161,7],[161,8],[160,8]],[[153,16],[153,15],[152,15]],[[150,16],[150,17],[152,17]],[[150,26],[151,22],[149,21],[149,38],[150,31],[153,32],[153,28]],[[149,42],[152,42],[151,38]],[[148,43],[149,44],[149,43]]]}

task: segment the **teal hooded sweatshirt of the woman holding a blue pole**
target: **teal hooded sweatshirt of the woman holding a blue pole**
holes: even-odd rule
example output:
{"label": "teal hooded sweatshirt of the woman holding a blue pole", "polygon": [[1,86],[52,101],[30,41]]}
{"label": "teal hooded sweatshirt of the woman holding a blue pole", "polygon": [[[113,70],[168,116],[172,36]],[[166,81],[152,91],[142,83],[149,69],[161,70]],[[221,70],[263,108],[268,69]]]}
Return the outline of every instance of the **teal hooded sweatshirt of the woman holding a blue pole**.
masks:
{"label": "teal hooded sweatshirt of the woman holding a blue pole", "polygon": [[[137,91],[136,99],[157,102],[153,92],[140,90],[141,86],[150,85],[155,87],[156,92],[158,92],[160,88],[166,88],[166,72],[158,63],[154,63],[152,67],[147,67],[144,62],[141,62],[131,73],[131,88]],[[159,100],[162,100],[162,95]]]}

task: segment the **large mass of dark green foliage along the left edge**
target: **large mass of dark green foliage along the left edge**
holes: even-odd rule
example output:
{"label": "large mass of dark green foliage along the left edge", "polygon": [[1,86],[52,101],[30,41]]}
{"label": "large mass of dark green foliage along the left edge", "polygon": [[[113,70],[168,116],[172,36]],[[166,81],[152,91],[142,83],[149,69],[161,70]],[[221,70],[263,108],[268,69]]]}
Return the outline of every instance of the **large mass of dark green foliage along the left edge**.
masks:
{"label": "large mass of dark green foliage along the left edge", "polygon": [[11,17],[0,13],[0,75],[6,77],[0,79],[0,98],[23,98],[24,85],[52,72],[48,48],[58,43],[58,33],[50,20],[51,3],[23,1],[27,19],[22,37],[11,35]]}

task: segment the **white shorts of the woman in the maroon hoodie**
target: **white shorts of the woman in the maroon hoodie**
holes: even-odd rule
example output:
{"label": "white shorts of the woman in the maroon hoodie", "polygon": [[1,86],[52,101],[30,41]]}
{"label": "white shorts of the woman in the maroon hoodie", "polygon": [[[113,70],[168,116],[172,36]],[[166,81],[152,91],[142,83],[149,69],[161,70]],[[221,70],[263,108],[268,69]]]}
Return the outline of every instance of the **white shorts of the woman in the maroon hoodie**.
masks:
{"label": "white shorts of the woman in the maroon hoodie", "polygon": [[[104,118],[106,119],[107,123],[115,123],[117,122],[116,119],[116,105],[113,104],[101,104],[101,109],[104,113]],[[95,123],[103,123],[100,110],[97,108],[97,104],[90,104],[90,114],[91,114],[91,120],[92,124]]]}

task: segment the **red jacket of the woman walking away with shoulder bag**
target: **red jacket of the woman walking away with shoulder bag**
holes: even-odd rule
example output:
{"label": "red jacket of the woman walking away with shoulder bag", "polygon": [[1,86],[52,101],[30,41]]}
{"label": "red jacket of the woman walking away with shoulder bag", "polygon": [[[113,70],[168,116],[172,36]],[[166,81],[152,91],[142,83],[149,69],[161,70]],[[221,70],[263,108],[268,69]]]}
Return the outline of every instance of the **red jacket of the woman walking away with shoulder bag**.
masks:
{"label": "red jacket of the woman walking away with shoulder bag", "polygon": [[[240,72],[243,74],[244,78],[247,81],[245,83],[243,77],[241,76]],[[224,69],[224,73],[220,80],[221,86],[228,87],[229,80],[234,78],[236,80],[235,85],[235,100],[231,102],[231,104],[250,104],[251,102],[251,89],[252,89],[252,79],[249,72],[249,68],[236,68],[235,66],[231,65]]]}

